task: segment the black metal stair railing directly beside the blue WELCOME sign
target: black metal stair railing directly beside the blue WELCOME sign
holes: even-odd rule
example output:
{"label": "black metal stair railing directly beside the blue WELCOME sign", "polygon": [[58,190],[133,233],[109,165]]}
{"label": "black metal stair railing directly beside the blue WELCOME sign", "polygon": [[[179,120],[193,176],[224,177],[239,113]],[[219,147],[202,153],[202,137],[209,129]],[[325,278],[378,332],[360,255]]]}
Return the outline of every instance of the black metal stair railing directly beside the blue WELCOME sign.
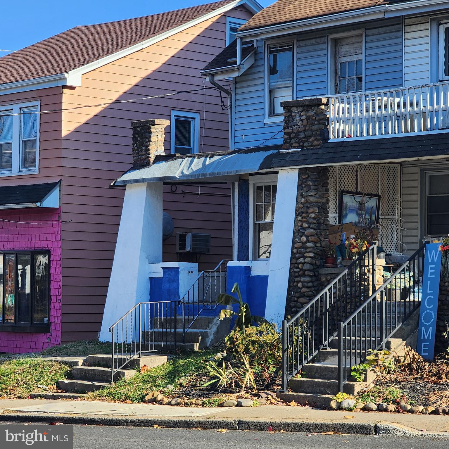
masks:
{"label": "black metal stair railing directly beside the blue WELCOME sign", "polygon": [[425,244],[346,320],[339,322],[339,392],[343,392],[351,367],[364,361],[369,349],[384,349],[387,340],[419,308],[424,248]]}

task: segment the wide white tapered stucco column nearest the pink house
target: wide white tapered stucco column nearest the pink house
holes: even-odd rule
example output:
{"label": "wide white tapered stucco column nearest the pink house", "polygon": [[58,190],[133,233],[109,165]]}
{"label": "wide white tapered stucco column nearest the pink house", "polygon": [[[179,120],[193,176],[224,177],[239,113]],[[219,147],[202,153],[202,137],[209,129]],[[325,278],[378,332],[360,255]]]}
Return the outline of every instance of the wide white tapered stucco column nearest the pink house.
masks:
{"label": "wide white tapered stucco column nearest the pink house", "polygon": [[162,262],[162,182],[128,184],[123,200],[100,341],[150,292],[149,264]]}

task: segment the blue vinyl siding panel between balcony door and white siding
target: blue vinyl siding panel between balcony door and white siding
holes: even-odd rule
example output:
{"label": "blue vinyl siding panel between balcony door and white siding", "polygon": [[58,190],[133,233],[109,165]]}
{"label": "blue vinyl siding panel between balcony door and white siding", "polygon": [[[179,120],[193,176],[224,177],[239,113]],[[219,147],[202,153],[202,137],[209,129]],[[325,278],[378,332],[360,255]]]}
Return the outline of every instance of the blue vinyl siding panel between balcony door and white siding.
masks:
{"label": "blue vinyl siding panel between balcony door and white siding", "polygon": [[402,86],[402,23],[365,30],[365,90]]}

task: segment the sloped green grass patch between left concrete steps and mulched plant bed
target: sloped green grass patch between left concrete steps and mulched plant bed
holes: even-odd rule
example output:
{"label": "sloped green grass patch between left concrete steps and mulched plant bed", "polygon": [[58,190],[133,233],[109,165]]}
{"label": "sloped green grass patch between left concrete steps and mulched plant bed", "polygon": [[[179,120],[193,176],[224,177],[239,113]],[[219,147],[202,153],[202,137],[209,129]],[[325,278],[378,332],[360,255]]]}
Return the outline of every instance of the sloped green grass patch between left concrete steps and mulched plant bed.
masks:
{"label": "sloped green grass patch between left concrete steps and mulched plant bed", "polygon": [[110,387],[89,393],[88,399],[141,402],[148,393],[164,390],[170,384],[174,386],[174,392],[181,384],[189,383],[195,374],[203,373],[204,365],[213,355],[213,351],[203,351],[174,357],[129,380],[119,380]]}

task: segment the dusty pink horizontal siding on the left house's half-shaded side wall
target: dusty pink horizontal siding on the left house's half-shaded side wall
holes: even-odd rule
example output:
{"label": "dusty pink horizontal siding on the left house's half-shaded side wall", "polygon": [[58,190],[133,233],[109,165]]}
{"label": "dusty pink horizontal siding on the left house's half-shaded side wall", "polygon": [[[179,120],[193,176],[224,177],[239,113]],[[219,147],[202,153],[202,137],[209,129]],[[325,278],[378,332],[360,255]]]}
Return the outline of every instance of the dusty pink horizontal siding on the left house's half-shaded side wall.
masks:
{"label": "dusty pink horizontal siding on the left house's half-shaded side wall", "polygon": [[[226,14],[251,17],[241,7]],[[225,15],[216,16],[92,70],[83,75],[82,87],[64,88],[63,106],[207,87],[199,70],[225,47],[225,32]],[[63,113],[62,219],[71,222],[62,229],[62,341],[96,338],[100,330],[124,194],[124,189],[110,189],[109,184],[131,166],[130,122],[151,117],[170,119],[172,109],[199,112],[200,150],[229,149],[228,112],[220,107],[219,93],[211,89]],[[169,127],[165,149],[170,149]],[[172,215],[175,232],[211,233],[212,253],[200,258],[203,267],[230,258],[228,186],[202,187],[199,196],[180,193],[180,186],[178,193],[172,194],[166,186],[164,210]],[[174,236],[164,244],[164,260],[176,260]]]}

